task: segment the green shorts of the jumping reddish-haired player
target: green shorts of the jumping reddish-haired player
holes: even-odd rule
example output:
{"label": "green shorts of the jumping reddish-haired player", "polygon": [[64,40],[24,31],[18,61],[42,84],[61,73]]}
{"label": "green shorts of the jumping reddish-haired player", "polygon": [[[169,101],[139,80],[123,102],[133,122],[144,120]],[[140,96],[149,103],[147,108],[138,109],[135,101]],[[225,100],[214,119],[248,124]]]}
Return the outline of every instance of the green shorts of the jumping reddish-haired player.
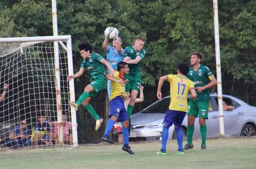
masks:
{"label": "green shorts of the jumping reddish-haired player", "polygon": [[141,85],[141,77],[136,75],[128,75],[125,76],[125,79],[128,79],[129,81],[125,83],[125,91],[129,92],[131,90],[137,90],[140,91],[140,85]]}

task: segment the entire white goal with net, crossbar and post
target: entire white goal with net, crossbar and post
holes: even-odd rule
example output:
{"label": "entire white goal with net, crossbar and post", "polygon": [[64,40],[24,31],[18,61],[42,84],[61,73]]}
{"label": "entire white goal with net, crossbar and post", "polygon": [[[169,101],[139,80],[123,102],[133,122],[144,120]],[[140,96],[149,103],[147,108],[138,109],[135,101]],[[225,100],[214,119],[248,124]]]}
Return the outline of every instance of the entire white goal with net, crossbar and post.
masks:
{"label": "entire white goal with net, crossbar and post", "polygon": [[77,146],[70,36],[0,38],[0,150]]}

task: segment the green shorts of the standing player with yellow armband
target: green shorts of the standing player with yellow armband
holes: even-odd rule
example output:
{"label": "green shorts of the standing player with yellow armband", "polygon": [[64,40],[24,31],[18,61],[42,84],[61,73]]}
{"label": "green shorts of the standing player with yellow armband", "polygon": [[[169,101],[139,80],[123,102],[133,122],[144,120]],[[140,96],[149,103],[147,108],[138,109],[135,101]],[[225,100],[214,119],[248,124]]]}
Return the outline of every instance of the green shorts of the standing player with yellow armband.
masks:
{"label": "green shorts of the standing player with yellow armband", "polygon": [[187,115],[208,119],[209,99],[190,100]]}

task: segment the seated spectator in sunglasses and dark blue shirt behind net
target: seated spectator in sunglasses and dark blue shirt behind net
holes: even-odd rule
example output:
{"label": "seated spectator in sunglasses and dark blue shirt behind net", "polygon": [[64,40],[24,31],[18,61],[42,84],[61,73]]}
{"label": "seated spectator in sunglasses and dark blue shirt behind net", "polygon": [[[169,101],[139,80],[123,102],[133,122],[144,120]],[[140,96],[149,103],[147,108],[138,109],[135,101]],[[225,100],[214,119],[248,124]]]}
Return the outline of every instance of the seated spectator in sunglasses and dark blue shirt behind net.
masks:
{"label": "seated spectator in sunglasses and dark blue shirt behind net", "polygon": [[7,141],[7,146],[19,147],[19,146],[31,146],[30,136],[31,130],[26,126],[26,120],[20,121],[20,124],[15,126],[10,132],[10,137]]}

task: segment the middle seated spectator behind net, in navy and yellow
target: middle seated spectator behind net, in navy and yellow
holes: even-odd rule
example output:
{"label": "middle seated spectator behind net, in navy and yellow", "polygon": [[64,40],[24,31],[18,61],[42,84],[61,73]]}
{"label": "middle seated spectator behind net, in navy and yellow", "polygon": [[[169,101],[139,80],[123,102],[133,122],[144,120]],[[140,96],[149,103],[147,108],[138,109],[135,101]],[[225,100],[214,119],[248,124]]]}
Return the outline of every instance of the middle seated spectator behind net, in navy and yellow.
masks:
{"label": "middle seated spectator behind net, in navy and yellow", "polygon": [[[34,135],[33,135],[34,134]],[[46,120],[45,114],[37,113],[37,123],[32,134],[33,146],[52,145],[51,127]]]}

